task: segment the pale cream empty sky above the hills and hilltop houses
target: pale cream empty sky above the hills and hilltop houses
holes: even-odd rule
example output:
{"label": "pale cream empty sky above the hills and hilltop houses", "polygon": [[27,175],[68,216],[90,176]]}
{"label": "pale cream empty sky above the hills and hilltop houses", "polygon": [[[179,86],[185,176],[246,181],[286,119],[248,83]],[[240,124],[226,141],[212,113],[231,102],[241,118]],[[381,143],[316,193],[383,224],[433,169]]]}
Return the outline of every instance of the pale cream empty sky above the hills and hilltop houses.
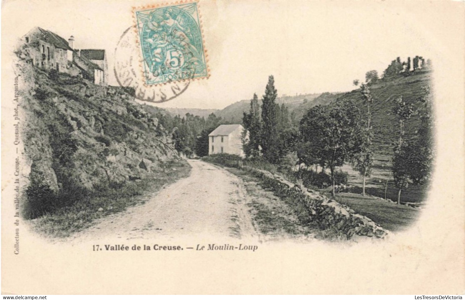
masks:
{"label": "pale cream empty sky above the hills and hilltop houses", "polygon": [[[14,30],[7,38],[20,38],[39,26],[65,39],[73,35],[75,48],[106,49],[110,84],[117,85],[115,46],[133,24],[131,7],[148,3],[158,2],[4,1],[21,21],[3,24],[2,33]],[[222,109],[263,95],[269,75],[279,95],[349,91],[354,79],[363,81],[373,69],[382,74],[397,56],[434,63],[445,55],[441,45],[454,42],[441,31],[445,21],[461,22],[452,14],[435,17],[448,9],[424,1],[200,0],[211,76],[156,105]]]}

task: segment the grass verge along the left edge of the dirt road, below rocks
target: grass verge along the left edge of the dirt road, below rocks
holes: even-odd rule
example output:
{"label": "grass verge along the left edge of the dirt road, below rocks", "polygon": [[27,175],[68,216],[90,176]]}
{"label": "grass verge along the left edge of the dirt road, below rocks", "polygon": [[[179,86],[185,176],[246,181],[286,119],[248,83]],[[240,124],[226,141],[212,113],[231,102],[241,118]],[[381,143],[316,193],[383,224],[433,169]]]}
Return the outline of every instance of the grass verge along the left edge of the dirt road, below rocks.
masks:
{"label": "grass verge along the left edge of the dirt road, below rocks", "polygon": [[34,232],[50,238],[66,238],[93,225],[99,218],[144,204],[163,186],[187,177],[191,166],[186,161],[167,164],[165,171],[149,173],[140,181],[129,181],[117,189],[106,189],[84,196],[73,205],[26,221]]}

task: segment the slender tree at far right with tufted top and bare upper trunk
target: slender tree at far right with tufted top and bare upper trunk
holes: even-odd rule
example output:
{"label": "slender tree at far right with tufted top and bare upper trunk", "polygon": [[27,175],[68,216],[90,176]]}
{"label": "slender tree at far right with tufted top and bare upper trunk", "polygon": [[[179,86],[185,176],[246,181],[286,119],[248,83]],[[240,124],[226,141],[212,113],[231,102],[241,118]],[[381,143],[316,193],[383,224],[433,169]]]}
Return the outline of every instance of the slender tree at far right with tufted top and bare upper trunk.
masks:
{"label": "slender tree at far right with tufted top and bare upper trunk", "polygon": [[392,111],[399,116],[399,142],[394,148],[394,156],[392,157],[392,175],[394,177],[394,184],[399,189],[397,203],[400,204],[402,189],[405,189],[409,185],[409,172],[412,166],[411,151],[409,151],[408,143],[405,143],[403,139],[405,134],[404,123],[413,115],[414,108],[412,104],[405,103],[402,96],[397,98],[395,102],[396,106]]}

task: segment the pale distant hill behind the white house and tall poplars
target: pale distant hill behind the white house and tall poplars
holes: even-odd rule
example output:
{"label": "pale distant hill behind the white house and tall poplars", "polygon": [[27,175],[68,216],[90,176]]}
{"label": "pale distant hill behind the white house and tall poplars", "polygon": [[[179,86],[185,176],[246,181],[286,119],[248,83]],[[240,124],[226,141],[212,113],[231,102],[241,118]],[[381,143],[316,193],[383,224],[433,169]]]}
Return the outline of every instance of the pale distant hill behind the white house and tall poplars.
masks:
{"label": "pale distant hill behind the white house and tall poplars", "polygon": [[[320,94],[300,94],[295,96],[278,97],[276,102],[279,104],[285,103],[286,106],[292,111],[304,102],[310,102]],[[260,98],[260,97],[259,97]],[[261,99],[259,99],[261,105]],[[242,123],[242,116],[244,112],[250,109],[250,99],[235,102],[224,109],[215,112],[215,115],[220,116],[223,120],[231,123]]]}

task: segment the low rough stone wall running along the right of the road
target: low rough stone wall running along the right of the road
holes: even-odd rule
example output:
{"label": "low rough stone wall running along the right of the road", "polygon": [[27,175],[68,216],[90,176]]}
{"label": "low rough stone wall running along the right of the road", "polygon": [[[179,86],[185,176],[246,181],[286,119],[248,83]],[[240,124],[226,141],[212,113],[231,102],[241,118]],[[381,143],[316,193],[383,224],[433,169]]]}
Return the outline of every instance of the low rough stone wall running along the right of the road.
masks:
{"label": "low rough stone wall running along the right of the road", "polygon": [[261,178],[278,196],[298,199],[312,222],[321,229],[335,229],[348,239],[354,235],[385,238],[389,234],[389,231],[376,225],[370,218],[355,213],[348,206],[341,205],[317,191],[292,184],[283,177],[265,170],[250,167],[245,169]]}

